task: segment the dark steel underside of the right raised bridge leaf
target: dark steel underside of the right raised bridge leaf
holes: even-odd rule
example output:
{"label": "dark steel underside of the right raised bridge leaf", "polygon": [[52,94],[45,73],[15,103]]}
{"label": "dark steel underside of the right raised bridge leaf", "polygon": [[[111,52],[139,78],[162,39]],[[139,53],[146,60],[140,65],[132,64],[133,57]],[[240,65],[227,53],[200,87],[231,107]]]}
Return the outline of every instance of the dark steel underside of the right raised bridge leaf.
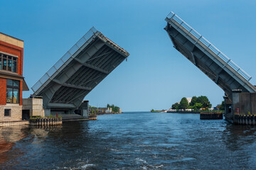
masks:
{"label": "dark steel underside of the right raised bridge leaf", "polygon": [[195,64],[196,67],[201,69],[215,84],[218,84],[218,86],[225,91],[225,95],[228,96],[230,100],[232,100],[233,89],[242,89],[244,92],[255,91],[255,87],[244,78],[235,76],[235,74],[230,72],[232,68],[229,68],[227,64],[216,60],[216,58],[211,56],[206,50],[200,49],[198,45],[196,45],[196,42],[191,41],[188,36],[183,35],[181,29],[177,29],[169,23],[165,30],[169,34],[176,50],[181,52],[181,54]]}

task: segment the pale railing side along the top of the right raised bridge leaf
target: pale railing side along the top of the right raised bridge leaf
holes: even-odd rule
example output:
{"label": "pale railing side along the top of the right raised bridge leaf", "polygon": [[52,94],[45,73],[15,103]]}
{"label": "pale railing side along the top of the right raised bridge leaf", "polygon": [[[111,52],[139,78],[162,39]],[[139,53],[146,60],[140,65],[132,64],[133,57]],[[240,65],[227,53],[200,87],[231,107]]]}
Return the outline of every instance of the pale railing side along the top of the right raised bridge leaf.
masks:
{"label": "pale railing side along the top of the right raised bridge leaf", "polygon": [[175,23],[175,22],[178,23],[178,25],[176,24],[176,26],[178,26],[179,28],[185,29],[188,36],[190,36],[193,39],[196,38],[195,39],[196,43],[203,44],[203,45],[201,45],[203,48],[205,48],[206,50],[210,50],[211,53],[213,52],[215,55],[215,56],[214,55],[213,56],[217,60],[219,60],[219,59],[223,60],[223,62],[225,62],[225,64],[227,64],[232,69],[234,69],[234,71],[237,72],[238,74],[240,74],[240,76],[243,77],[246,81],[250,81],[250,79],[252,79],[252,77],[250,77],[249,74],[247,74],[240,67],[238,67],[237,64],[235,64],[232,60],[230,60],[230,58],[225,56],[223,54],[223,52],[220,52],[220,50],[218,50],[218,48],[216,48],[208,40],[206,40],[206,38],[204,38],[202,35],[200,35],[198,32],[196,32],[196,30],[191,28],[191,26],[188,26],[188,24],[185,23],[181,18],[179,18],[174,12],[169,13],[167,18],[169,19],[169,21],[171,21],[173,23]]}

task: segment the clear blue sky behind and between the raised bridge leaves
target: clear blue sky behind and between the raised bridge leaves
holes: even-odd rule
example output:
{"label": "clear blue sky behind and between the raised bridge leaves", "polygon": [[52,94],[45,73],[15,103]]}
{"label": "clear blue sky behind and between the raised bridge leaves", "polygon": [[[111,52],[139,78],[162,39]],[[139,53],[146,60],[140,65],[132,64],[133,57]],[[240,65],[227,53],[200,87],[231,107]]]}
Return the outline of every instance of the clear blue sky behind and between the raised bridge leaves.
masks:
{"label": "clear blue sky behind and between the raised bridge leaves", "polygon": [[23,76],[30,88],[95,26],[130,56],[85,97],[90,105],[149,111],[203,95],[215,106],[223,101],[223,90],[174,49],[164,19],[174,11],[255,85],[255,7],[256,1],[242,0],[0,0],[0,32],[24,40]]}

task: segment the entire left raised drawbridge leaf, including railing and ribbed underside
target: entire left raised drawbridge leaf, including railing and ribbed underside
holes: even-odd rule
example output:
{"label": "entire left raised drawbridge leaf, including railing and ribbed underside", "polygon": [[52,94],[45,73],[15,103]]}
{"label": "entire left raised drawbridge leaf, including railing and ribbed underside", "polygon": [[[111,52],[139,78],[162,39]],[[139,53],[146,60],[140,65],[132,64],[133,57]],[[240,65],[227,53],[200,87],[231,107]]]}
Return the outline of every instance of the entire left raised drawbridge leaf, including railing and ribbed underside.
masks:
{"label": "entire left raised drawbridge leaf, including railing and ribbed underside", "polygon": [[92,27],[32,87],[45,114],[74,113],[83,99],[129,53]]}

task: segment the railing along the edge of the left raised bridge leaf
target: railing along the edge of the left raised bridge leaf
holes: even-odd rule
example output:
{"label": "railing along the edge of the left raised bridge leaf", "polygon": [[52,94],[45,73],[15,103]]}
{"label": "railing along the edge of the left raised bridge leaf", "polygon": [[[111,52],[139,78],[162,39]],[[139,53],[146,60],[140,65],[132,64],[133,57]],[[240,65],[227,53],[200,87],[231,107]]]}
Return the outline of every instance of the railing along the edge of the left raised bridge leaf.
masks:
{"label": "railing along the edge of the left raised bridge leaf", "polygon": [[63,64],[67,62],[70,57],[72,57],[75,52],[80,49],[80,47],[82,47],[82,45],[85,44],[85,42],[87,42],[87,40],[92,38],[92,35],[94,35],[96,32],[97,30],[95,27],[90,28],[90,30],[85,33],[85,35],[83,35],[82,38],[78,40],[78,42],[76,42],[75,45],[73,45],[73,47],[71,47],[70,50],[68,50],[68,52],[66,52],[65,55],[63,55],[63,57],[61,57],[60,60],[58,60],[58,62],[56,62],[53,67],[51,67],[48,72],[46,72],[46,74],[44,74],[43,77],[36,82],[35,85],[32,86],[32,91],[35,93],[41,86],[43,86],[43,84],[45,84],[46,81],[50,79],[50,77],[53,76],[53,74],[55,74],[55,72],[57,72],[57,70],[62,67]]}

